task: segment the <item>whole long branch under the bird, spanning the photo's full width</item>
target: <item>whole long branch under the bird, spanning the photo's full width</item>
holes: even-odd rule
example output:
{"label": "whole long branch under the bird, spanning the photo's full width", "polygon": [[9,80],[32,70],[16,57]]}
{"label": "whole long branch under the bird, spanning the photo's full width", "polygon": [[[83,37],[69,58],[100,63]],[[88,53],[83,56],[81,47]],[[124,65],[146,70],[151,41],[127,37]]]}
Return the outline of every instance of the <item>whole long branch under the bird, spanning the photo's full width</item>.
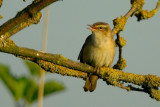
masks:
{"label": "whole long branch under the bird, spanning the photo's full width", "polygon": [[117,86],[127,91],[135,90],[135,88],[133,88],[133,86],[125,86],[124,83],[132,83],[141,86],[143,92],[147,92],[152,98],[160,101],[160,94],[157,94],[160,93],[160,90],[158,90],[158,87],[160,87],[160,77],[155,75],[133,74],[113,68],[101,68],[96,72],[92,66],[87,64],[72,61],[62,55],[43,53],[33,49],[18,47],[14,45],[11,40],[0,44],[0,51],[28,59],[37,63],[46,71],[61,75],[85,79],[87,73],[93,73],[106,81],[107,84]]}

